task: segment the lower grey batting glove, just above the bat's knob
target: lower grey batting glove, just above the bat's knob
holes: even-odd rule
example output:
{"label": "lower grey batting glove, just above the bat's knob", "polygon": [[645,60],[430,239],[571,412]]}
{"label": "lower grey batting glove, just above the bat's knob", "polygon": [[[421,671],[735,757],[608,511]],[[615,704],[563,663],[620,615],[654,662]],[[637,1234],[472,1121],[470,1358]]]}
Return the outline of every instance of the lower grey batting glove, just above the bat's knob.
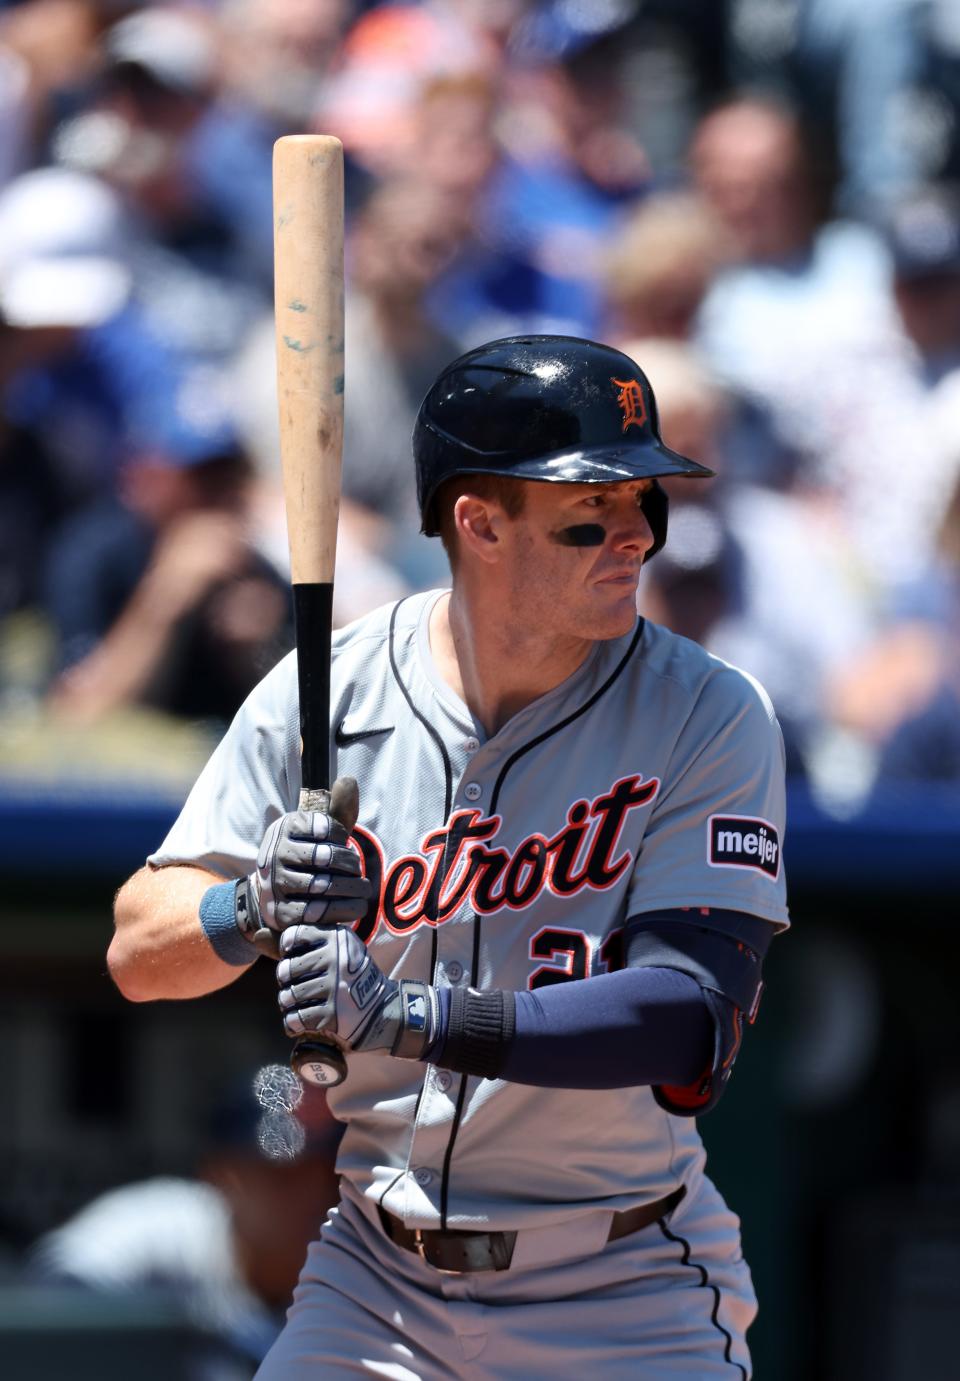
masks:
{"label": "lower grey batting glove, just above the bat's knob", "polygon": [[348,1051],[423,1059],[438,1022],[428,983],[387,978],[355,931],[291,925],[276,965],[287,1036],[322,1036]]}

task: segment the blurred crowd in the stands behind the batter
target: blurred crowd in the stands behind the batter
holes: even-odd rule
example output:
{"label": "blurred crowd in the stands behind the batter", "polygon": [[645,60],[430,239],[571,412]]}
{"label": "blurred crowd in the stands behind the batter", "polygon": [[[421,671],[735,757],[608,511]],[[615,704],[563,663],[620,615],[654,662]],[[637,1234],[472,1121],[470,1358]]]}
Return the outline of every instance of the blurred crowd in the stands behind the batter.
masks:
{"label": "blurred crowd in the stands behind the batter", "polygon": [[767,685],[826,798],[960,782],[959,117],[953,0],[0,4],[0,724],[220,724],[290,646],[271,149],[316,130],[337,620],[448,577],[438,369],[602,338],[717,471],[641,610]]}

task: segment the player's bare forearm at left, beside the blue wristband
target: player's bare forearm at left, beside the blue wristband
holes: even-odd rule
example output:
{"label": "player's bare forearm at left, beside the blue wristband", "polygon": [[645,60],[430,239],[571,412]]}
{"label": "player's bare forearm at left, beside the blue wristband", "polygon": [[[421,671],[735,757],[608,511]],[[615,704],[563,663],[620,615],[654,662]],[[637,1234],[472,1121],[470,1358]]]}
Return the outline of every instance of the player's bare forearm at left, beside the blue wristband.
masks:
{"label": "player's bare forearm at left, beside the blue wristband", "polygon": [[[232,983],[200,924],[200,900],[222,878],[199,867],[141,869],[120,889],[106,954],[113,982],[134,1003],[200,997]],[[250,960],[257,957],[251,949]]]}

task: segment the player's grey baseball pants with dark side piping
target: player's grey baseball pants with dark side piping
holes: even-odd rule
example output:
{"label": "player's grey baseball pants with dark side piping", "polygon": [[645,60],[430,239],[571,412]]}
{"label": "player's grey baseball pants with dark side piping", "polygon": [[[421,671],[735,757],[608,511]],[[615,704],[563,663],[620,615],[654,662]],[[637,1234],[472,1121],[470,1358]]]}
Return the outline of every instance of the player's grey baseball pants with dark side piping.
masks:
{"label": "player's grey baseball pants with dark side piping", "polygon": [[609,1214],[597,1230],[583,1218],[539,1230],[532,1246],[521,1232],[503,1272],[435,1271],[374,1214],[355,1196],[333,1211],[257,1381],[751,1375],[757,1305],[739,1222],[706,1178],[666,1218],[597,1250]]}

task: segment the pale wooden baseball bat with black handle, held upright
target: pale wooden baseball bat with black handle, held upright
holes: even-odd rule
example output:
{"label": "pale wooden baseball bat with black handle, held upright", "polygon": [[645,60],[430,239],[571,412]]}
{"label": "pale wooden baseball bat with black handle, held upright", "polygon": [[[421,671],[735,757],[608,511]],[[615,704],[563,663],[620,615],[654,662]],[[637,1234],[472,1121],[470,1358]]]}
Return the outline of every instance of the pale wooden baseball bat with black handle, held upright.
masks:
{"label": "pale wooden baseball bat with black handle, held upright", "polygon": [[[280,467],[300,689],[301,811],[356,823],[356,783],[330,786],[330,637],[344,434],[344,153],[326,134],[273,145],[273,315]],[[343,1052],[301,1037],[301,1079],[338,1084]]]}

